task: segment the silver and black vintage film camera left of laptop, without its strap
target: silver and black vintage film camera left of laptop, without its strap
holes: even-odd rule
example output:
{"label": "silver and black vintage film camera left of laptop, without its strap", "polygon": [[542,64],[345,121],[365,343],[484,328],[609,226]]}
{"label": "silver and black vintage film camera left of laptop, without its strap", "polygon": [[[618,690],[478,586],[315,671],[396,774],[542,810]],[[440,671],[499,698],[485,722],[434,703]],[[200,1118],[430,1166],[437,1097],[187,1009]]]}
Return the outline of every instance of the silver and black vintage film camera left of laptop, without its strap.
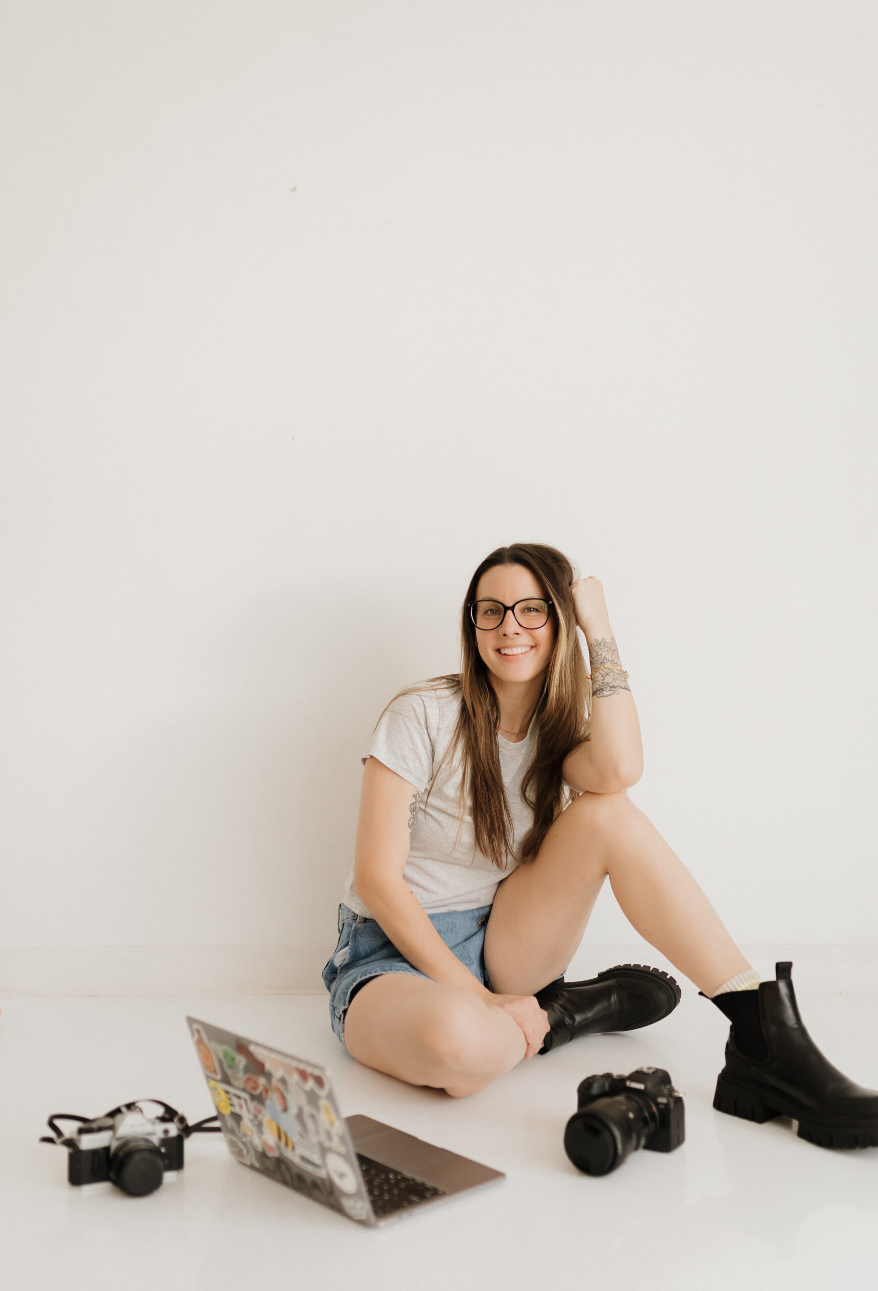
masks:
{"label": "silver and black vintage film camera left of laptop, without its strap", "polygon": [[161,1184],[165,1171],[183,1168],[183,1135],[173,1119],[120,1108],[77,1126],[67,1140],[67,1180],[75,1186],[110,1180],[132,1197]]}

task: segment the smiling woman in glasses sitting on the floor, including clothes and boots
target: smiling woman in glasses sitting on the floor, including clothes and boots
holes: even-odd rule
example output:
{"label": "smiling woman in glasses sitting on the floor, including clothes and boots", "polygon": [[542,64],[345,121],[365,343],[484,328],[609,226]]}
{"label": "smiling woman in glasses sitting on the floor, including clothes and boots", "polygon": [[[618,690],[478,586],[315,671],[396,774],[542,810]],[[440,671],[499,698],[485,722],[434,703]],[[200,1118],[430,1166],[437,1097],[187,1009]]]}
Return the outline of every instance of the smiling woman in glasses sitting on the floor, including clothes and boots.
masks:
{"label": "smiling woman in glasses sitting on the floor, including clothes and boots", "polygon": [[790,966],[759,982],[626,797],[640,731],[597,578],[573,581],[553,547],[493,551],[465,598],[460,675],[399,695],[363,760],[355,864],[323,973],[336,1034],[360,1062],[465,1095],[577,1035],[666,1017],[680,991],[657,968],[562,977],[609,877],[633,927],[732,1022],[715,1108],[793,1117],[828,1146],[878,1144],[878,1093],[815,1047]]}

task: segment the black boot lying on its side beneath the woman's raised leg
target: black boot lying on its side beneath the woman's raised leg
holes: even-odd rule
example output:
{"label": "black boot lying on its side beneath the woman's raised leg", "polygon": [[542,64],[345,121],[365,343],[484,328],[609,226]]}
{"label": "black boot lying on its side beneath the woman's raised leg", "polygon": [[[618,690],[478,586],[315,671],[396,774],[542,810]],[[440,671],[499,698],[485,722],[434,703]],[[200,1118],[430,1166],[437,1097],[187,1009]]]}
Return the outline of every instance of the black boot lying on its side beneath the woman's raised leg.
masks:
{"label": "black boot lying on its side beneath the woman's raised leg", "polygon": [[577,1035],[649,1026],[673,1013],[679,1002],[680,989],[670,973],[646,964],[617,964],[589,981],[559,977],[537,991],[550,1026],[540,1052],[547,1053]]}

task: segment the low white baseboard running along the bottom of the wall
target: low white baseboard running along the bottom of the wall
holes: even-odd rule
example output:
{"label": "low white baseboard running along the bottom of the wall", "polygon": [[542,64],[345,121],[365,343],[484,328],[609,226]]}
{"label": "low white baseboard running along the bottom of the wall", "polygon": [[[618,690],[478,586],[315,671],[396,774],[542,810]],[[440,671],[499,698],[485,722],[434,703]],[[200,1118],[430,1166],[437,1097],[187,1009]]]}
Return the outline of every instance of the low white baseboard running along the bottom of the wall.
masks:
{"label": "low white baseboard running along the bottom of the wall", "polygon": [[[806,990],[878,993],[878,944],[742,945],[753,966],[772,977],[775,962],[791,959]],[[18,995],[314,995],[332,946],[5,946],[0,948],[0,998]],[[646,941],[585,941],[568,979],[589,977],[615,963],[649,963],[677,973]],[[688,982],[684,989],[695,990]]]}

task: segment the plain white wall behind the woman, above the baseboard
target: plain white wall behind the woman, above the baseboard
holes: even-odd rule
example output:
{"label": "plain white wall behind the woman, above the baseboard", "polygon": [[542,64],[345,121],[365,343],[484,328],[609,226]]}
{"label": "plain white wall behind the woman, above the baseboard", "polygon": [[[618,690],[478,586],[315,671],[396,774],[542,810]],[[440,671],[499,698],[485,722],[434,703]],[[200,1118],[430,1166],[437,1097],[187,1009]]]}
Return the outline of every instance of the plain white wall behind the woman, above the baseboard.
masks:
{"label": "plain white wall behind the woman, above the baseboard", "polygon": [[875,941],[877,37],[3,5],[6,966],[312,981],[364,740],[513,540],[602,578],[633,797],[733,933]]}

